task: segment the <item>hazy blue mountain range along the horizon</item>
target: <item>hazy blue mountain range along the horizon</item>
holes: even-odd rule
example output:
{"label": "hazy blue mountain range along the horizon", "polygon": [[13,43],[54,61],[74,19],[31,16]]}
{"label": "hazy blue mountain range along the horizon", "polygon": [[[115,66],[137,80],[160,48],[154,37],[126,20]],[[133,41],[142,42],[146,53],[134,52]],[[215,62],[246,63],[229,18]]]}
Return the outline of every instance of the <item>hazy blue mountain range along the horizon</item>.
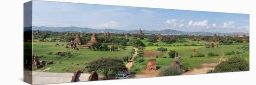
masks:
{"label": "hazy blue mountain range along the horizon", "polygon": [[[25,28],[26,29],[26,28]],[[109,31],[110,33],[137,33],[138,30],[115,30],[115,29],[91,29],[91,28],[80,28],[80,27],[46,27],[46,26],[33,26],[33,30],[48,30],[48,31],[76,31],[76,32],[104,32]],[[144,34],[157,34],[160,32],[161,34],[169,34],[169,35],[207,35],[207,36],[213,36],[214,34],[218,36],[231,36],[234,34],[246,34],[246,36],[249,36],[248,33],[243,32],[236,32],[236,33],[213,33],[213,32],[186,32],[186,31],[179,31],[179,30],[142,30]]]}

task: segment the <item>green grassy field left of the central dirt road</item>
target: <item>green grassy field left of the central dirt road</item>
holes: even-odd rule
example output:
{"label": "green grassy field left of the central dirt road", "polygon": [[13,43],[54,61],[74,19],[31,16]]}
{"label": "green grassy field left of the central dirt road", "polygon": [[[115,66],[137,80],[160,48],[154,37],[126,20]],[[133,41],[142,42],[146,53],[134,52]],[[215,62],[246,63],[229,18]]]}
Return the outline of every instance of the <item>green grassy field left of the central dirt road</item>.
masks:
{"label": "green grassy field left of the central dirt road", "polygon": [[[58,43],[60,46],[55,46]],[[92,51],[90,49],[73,50],[66,49],[62,44],[67,44],[67,42],[33,42],[33,54],[39,56],[39,61],[54,61],[54,64],[47,65],[45,67],[33,70],[44,70],[50,67],[51,70],[46,72],[74,72],[75,69],[65,69],[67,67],[85,67],[88,63],[95,61],[101,57],[122,57],[127,55],[130,48],[126,50],[116,50],[116,51]],[[52,55],[48,53],[52,52]],[[72,56],[59,56],[55,55],[56,52],[70,52]]]}

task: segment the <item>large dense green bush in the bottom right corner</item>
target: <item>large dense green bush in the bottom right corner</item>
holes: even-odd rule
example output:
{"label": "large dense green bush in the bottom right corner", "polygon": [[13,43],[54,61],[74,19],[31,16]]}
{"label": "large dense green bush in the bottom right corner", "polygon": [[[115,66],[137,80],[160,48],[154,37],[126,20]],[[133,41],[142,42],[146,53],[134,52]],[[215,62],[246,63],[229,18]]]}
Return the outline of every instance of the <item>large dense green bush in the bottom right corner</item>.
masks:
{"label": "large dense green bush in the bottom right corner", "polygon": [[213,71],[208,73],[249,71],[249,62],[242,57],[232,57],[218,64]]}

